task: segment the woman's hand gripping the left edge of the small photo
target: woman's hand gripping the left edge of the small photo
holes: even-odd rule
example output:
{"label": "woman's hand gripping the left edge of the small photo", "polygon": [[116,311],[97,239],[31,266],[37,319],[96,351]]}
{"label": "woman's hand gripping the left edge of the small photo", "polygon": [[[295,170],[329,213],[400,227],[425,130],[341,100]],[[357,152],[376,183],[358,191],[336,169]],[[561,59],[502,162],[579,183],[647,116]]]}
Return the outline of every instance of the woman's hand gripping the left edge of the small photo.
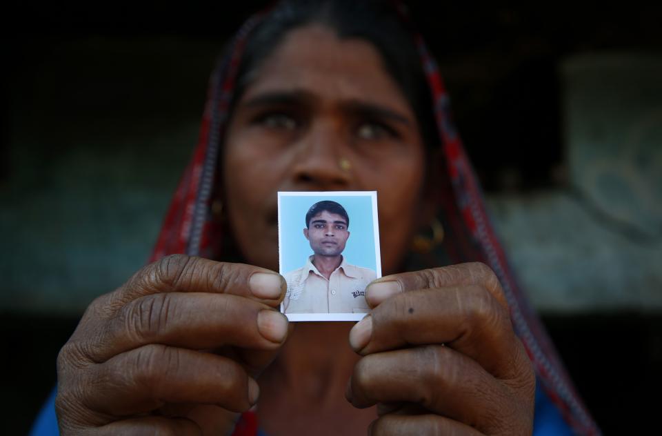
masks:
{"label": "woman's hand gripping the left edge of the small photo", "polygon": [[172,255],[90,304],[57,359],[66,435],[228,434],[288,335],[285,280]]}

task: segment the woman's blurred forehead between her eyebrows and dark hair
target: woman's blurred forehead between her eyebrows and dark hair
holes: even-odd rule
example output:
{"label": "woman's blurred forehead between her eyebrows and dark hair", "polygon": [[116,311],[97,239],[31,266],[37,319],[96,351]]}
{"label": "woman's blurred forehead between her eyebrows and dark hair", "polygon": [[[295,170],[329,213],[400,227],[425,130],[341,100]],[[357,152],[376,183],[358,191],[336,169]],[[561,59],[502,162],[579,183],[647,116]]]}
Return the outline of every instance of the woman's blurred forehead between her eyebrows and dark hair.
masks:
{"label": "woman's blurred forehead between her eyebrows and dark hair", "polygon": [[312,24],[290,31],[259,68],[243,100],[299,92],[324,102],[364,101],[411,114],[377,49],[363,39],[339,39]]}

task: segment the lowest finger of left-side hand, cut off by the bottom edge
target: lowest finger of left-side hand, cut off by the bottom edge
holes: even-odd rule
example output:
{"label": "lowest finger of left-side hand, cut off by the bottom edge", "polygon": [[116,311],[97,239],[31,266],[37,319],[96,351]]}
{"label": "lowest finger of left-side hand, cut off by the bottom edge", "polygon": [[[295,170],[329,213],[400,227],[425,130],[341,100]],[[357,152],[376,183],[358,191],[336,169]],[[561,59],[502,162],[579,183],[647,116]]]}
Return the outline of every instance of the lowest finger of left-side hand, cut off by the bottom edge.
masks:
{"label": "lowest finger of left-side hand, cut off by the bottom edge", "polygon": [[201,436],[202,428],[190,419],[141,417],[123,419],[94,429],[99,436]]}

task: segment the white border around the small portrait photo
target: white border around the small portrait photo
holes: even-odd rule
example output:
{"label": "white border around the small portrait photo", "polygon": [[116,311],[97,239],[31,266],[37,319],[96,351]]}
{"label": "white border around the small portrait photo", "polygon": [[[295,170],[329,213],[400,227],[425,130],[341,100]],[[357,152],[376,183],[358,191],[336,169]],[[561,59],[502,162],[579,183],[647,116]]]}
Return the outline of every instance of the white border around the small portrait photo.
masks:
{"label": "white border around the small portrait photo", "polygon": [[[381,277],[381,247],[379,246],[379,219],[377,218],[377,191],[279,191],[278,192],[278,268],[283,275],[283,250],[281,250],[281,197],[370,197],[372,202],[372,231],[374,232],[375,272]],[[361,321],[370,313],[284,313],[281,302],[281,313],[290,321]]]}

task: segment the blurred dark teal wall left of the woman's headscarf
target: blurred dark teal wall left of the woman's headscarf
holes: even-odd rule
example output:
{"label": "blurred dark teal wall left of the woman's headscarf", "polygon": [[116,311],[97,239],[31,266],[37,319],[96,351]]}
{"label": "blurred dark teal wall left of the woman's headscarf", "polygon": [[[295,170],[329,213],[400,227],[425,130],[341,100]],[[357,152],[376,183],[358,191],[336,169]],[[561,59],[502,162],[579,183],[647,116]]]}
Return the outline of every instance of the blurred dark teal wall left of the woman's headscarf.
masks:
{"label": "blurred dark teal wall left of the woman's headscarf", "polygon": [[219,44],[33,40],[12,65],[0,309],[77,315],[149,254]]}

